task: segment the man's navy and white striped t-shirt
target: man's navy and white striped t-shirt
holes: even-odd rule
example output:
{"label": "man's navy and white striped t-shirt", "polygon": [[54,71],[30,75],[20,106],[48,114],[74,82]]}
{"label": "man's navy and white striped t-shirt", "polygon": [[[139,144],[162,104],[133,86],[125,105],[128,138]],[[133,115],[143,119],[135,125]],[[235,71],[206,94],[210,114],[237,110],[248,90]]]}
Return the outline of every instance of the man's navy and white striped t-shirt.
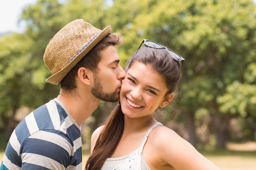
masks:
{"label": "man's navy and white striped t-shirt", "polygon": [[82,169],[81,129],[53,99],[25,117],[12,132],[0,170]]}

